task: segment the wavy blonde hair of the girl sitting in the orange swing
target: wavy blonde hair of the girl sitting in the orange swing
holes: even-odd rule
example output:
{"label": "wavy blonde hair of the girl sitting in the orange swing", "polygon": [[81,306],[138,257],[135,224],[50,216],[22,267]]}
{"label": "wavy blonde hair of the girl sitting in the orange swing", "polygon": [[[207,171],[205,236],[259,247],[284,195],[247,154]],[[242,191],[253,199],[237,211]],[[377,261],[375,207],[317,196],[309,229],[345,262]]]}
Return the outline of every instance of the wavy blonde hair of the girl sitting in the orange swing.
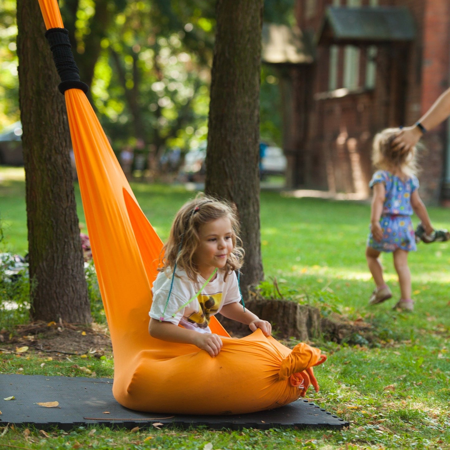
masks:
{"label": "wavy blonde hair of the girl sitting in the orange swing", "polygon": [[217,200],[216,198],[201,195],[186,202],[176,213],[172,223],[169,239],[162,247],[159,271],[173,271],[177,268],[184,270],[192,281],[197,281],[198,268],[193,261],[194,253],[200,242],[198,231],[200,226],[216,219],[227,217],[231,222],[233,252],[221,269],[225,279],[232,270],[240,269],[243,265],[244,249],[239,238],[239,220],[236,207]]}

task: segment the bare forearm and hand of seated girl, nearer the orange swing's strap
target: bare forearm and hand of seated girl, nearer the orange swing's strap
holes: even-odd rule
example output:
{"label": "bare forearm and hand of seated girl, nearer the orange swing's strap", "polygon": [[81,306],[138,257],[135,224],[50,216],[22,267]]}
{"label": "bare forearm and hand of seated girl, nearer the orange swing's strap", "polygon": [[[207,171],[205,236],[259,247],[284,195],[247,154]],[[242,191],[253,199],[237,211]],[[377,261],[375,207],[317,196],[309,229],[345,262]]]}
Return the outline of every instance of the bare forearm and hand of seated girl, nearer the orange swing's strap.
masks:
{"label": "bare forearm and hand of seated girl, nearer the orange swing's strap", "polygon": [[162,341],[193,344],[202,350],[206,350],[212,357],[218,355],[222,348],[222,340],[217,334],[199,333],[195,330],[181,328],[171,322],[160,322],[153,318],[150,318],[148,333],[153,338]]}

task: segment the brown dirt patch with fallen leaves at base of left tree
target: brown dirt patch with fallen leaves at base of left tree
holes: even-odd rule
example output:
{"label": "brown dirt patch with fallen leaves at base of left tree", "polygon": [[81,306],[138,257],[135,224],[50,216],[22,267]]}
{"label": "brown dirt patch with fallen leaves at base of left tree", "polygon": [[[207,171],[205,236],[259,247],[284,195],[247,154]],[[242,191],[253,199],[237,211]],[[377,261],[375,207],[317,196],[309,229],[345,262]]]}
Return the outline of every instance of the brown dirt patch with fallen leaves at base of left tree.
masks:
{"label": "brown dirt patch with fallen leaves at base of left tree", "polygon": [[90,354],[99,358],[112,353],[108,328],[99,324],[86,326],[36,322],[19,325],[14,333],[0,331],[0,350],[14,353],[24,346],[52,357]]}

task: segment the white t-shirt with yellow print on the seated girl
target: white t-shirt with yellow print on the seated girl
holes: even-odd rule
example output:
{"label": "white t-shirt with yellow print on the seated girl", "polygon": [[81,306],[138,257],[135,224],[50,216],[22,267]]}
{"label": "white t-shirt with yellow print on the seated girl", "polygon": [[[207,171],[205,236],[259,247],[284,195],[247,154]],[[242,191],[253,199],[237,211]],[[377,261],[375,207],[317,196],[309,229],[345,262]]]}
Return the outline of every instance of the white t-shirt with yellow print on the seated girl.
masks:
{"label": "white t-shirt with yellow print on the seated girl", "polygon": [[206,280],[198,275],[197,282],[194,282],[188,278],[184,270],[176,270],[171,295],[167,302],[172,276],[169,274],[167,277],[165,272],[159,272],[153,282],[153,303],[148,315],[156,320],[163,318],[165,322],[180,324],[187,329],[211,333],[208,326],[209,317],[217,314],[224,305],[241,300],[236,273],[230,273],[226,281],[224,281],[224,275],[222,270],[218,270],[216,278],[207,283],[197,298],[183,307],[195,296]]}

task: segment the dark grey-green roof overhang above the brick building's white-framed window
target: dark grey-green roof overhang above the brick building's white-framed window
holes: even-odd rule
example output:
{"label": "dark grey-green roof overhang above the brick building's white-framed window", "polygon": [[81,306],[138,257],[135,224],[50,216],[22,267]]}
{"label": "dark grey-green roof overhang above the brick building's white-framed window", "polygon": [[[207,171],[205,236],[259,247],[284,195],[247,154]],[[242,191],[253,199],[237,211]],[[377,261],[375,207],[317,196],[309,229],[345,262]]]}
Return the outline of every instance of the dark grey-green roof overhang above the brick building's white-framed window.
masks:
{"label": "dark grey-green roof overhang above the brick building's white-framed window", "polygon": [[410,42],[416,35],[405,7],[329,7],[316,37],[318,45],[377,45]]}

